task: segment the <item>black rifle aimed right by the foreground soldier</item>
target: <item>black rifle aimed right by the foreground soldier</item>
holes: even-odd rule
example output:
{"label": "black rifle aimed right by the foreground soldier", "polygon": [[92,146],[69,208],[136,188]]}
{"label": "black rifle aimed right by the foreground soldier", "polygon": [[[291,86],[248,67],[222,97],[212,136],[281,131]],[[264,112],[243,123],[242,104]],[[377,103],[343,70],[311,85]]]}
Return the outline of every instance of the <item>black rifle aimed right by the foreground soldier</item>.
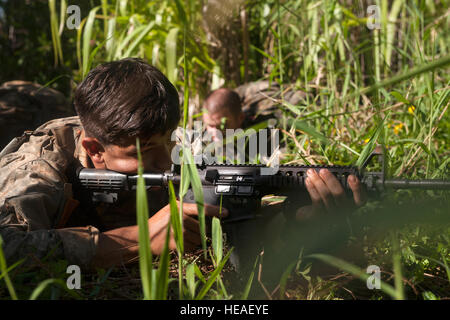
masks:
{"label": "black rifle aimed right by the foreground soldier", "polygon": [[[260,225],[248,220],[261,217],[260,207],[263,196],[276,194],[286,196],[287,204],[306,204],[309,201],[305,187],[307,170],[328,169],[340,181],[344,189],[351,194],[347,185],[347,177],[355,175],[362,182],[368,195],[377,196],[385,189],[434,189],[449,190],[449,180],[405,180],[385,179],[384,170],[381,172],[366,172],[369,161],[374,156],[380,156],[382,167],[384,158],[380,153],[372,155],[358,169],[353,166],[307,166],[281,165],[274,175],[261,175],[263,165],[226,165],[212,164],[198,166],[198,173],[203,185],[204,202],[227,208],[229,215],[223,219],[224,232],[229,243],[242,247],[243,243],[254,240],[253,235]],[[126,175],[114,171],[80,168],[77,172],[82,187],[92,191],[94,202],[114,203],[120,191],[133,190],[137,184],[137,175]],[[143,178],[147,188],[152,186],[174,185],[180,182],[180,167],[172,166],[167,173],[144,173]],[[222,198],[222,199],[221,199]],[[306,200],[306,201],[305,201]],[[194,194],[189,190],[184,198],[185,202],[194,202]],[[292,211],[292,210],[291,210]],[[235,223],[240,222],[240,223]],[[250,241],[252,240],[252,241]],[[254,242],[254,241],[253,241]],[[235,248],[231,261],[239,266],[239,257],[244,256],[243,249]]]}

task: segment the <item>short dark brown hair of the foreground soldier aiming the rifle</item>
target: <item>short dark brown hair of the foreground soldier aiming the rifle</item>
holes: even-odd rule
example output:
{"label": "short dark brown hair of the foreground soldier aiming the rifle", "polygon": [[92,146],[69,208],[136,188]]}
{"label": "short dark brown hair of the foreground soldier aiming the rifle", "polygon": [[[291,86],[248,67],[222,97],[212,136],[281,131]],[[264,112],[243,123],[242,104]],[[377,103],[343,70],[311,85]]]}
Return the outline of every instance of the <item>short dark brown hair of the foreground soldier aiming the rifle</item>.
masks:
{"label": "short dark brown hair of the foreground soldier aiming the rifle", "polygon": [[125,146],[175,128],[180,105],[175,87],[142,59],[126,58],[91,70],[75,91],[74,105],[87,136]]}

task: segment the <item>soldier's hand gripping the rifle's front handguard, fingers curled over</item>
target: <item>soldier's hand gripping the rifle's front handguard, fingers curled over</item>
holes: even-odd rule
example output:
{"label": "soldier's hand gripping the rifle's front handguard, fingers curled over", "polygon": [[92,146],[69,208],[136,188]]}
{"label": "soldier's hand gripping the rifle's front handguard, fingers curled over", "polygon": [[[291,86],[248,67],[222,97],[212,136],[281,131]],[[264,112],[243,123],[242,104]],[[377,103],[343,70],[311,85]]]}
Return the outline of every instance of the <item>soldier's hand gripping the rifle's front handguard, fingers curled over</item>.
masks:
{"label": "soldier's hand gripping the rifle's front handguard, fingers curled over", "polygon": [[306,188],[312,204],[297,210],[296,218],[304,221],[323,213],[349,212],[365,204],[367,197],[357,177],[350,175],[348,185],[353,192],[353,199],[347,197],[337,178],[327,169],[317,173],[313,169],[307,172]]}

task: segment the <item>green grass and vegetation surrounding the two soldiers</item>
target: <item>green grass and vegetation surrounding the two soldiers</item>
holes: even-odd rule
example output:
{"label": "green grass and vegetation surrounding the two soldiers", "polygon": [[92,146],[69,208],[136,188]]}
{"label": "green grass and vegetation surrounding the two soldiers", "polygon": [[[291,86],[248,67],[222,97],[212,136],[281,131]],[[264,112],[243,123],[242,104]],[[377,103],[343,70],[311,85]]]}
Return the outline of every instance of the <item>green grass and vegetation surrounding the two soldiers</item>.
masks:
{"label": "green grass and vegetation surrounding the two soldiers", "polygon": [[[199,102],[222,83],[234,87],[268,79],[280,84],[281,97],[290,87],[307,93],[299,105],[279,101],[284,113],[282,129],[289,137],[282,163],[361,164],[378,143],[387,148],[389,177],[448,178],[450,1],[375,1],[381,16],[380,29],[374,30],[366,25],[367,2],[230,0],[225,6],[223,1],[81,1],[81,28],[67,30],[63,23],[67,17],[61,11],[67,1],[36,1],[33,8],[40,14],[34,13],[33,21],[39,28],[19,19],[25,13],[12,18],[19,7],[24,12],[31,9],[25,5],[14,8],[9,1],[0,4],[6,12],[0,46],[13,50],[13,55],[3,57],[6,51],[1,50],[7,67],[0,72],[0,79],[12,80],[20,74],[41,84],[51,82],[50,86],[69,94],[99,63],[142,57],[161,69],[183,94],[184,126],[192,125],[201,112]],[[21,47],[8,44],[7,24],[29,30]],[[30,58],[32,41],[40,44]],[[35,58],[45,63],[28,65]],[[183,155],[184,159],[191,156],[187,150]],[[160,257],[151,256],[148,230],[143,228],[148,211],[140,181],[137,214],[141,244],[145,245],[140,247],[139,268],[83,275],[79,298],[450,297],[445,193],[417,197],[405,191],[383,201],[370,201],[349,218],[351,231],[340,251],[300,255],[271,288],[263,279],[263,256],[255,255],[253,272],[242,282],[245,287],[235,289],[231,285],[235,275],[227,267],[230,250],[222,243],[217,220],[213,221],[212,239],[205,236],[198,174],[185,164],[182,176],[180,198],[189,185],[195,190],[203,249],[195,254],[184,252],[179,236],[182,221],[171,186],[176,255],[165,250]],[[410,213],[389,209],[402,204],[416,205],[414,218],[394,218]],[[208,241],[212,243],[209,251],[205,250]],[[383,271],[382,290],[366,287],[365,270],[371,264]],[[36,271],[21,270],[15,264],[7,272],[0,251],[0,297],[35,297],[30,288],[41,281],[66,279],[64,266],[63,262],[46,264]],[[72,298],[59,286],[41,285],[50,288],[36,289],[42,297]]]}

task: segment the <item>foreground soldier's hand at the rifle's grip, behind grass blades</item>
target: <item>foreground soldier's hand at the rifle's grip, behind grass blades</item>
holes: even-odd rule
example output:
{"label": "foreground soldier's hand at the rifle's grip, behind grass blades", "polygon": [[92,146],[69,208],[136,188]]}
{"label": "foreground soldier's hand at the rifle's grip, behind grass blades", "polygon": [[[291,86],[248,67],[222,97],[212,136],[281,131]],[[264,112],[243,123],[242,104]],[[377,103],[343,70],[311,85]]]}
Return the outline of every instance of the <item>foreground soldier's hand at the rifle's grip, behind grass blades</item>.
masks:
{"label": "foreground soldier's hand at the rifle's grip, behind grass blades", "polygon": [[[178,201],[177,206],[178,208],[180,206]],[[218,206],[205,204],[205,215],[210,217],[228,216],[227,209],[222,208],[221,214],[219,209]],[[198,216],[197,205],[195,203],[183,203],[183,238],[185,251],[193,250],[201,243],[200,225],[196,216]],[[170,205],[166,205],[148,220],[151,249],[156,255],[163,252],[164,243],[166,241],[167,225],[169,222]],[[176,243],[173,228],[171,228],[170,233],[169,249],[175,250]]]}

